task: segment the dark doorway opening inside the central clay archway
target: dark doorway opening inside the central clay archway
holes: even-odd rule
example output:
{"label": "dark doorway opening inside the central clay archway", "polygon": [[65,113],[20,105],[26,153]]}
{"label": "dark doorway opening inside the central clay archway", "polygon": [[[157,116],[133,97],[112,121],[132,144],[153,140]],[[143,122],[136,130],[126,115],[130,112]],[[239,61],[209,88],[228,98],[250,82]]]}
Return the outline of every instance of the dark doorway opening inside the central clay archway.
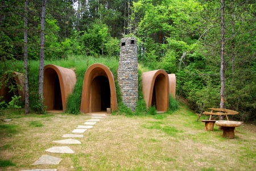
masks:
{"label": "dark doorway opening inside the central clay archway", "polygon": [[106,111],[110,108],[110,86],[105,76],[98,76],[92,81],[91,107],[92,112]]}

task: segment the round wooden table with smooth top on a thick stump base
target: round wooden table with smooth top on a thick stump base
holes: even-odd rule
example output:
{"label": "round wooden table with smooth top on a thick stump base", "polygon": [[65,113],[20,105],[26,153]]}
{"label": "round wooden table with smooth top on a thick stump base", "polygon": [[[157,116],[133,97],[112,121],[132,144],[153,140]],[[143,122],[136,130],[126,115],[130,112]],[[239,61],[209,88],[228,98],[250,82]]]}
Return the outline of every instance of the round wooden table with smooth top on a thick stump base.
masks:
{"label": "round wooden table with smooth top on a thick stump base", "polygon": [[231,120],[217,120],[216,125],[220,126],[223,130],[222,137],[229,139],[234,138],[234,129],[240,127],[243,122],[231,121]]}

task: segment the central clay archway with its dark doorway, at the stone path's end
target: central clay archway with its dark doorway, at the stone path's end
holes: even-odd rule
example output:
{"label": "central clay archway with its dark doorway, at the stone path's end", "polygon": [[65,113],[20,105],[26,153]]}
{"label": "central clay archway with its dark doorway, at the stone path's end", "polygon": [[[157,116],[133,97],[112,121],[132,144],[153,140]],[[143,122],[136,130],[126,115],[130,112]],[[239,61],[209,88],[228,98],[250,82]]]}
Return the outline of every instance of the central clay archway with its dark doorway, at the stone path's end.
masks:
{"label": "central clay archway with its dark doorway, at the stone path's end", "polygon": [[103,64],[90,65],[84,75],[81,112],[117,110],[114,76]]}

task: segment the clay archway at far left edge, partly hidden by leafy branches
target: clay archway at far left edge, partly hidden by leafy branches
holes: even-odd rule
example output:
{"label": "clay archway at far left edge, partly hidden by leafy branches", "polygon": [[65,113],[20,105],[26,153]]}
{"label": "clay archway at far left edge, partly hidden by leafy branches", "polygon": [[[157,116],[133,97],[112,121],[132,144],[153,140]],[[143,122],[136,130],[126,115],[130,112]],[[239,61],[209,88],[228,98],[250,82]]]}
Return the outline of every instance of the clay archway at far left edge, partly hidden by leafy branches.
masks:
{"label": "clay archway at far left edge, partly hidden by leafy branches", "polygon": [[[6,75],[2,76],[2,87],[0,89],[0,97],[3,97],[3,99],[0,99],[0,101],[5,101],[6,103],[9,103],[12,99],[11,97],[13,97],[14,95],[18,95],[21,97],[21,101],[24,101],[24,76],[22,73],[18,73],[18,72],[13,72],[13,79],[8,79],[8,82],[5,81],[6,79]],[[7,76],[8,77],[8,76]],[[5,85],[7,84],[7,85]],[[16,88],[16,91],[10,92],[10,89],[7,87],[8,84],[14,85],[14,87]]]}

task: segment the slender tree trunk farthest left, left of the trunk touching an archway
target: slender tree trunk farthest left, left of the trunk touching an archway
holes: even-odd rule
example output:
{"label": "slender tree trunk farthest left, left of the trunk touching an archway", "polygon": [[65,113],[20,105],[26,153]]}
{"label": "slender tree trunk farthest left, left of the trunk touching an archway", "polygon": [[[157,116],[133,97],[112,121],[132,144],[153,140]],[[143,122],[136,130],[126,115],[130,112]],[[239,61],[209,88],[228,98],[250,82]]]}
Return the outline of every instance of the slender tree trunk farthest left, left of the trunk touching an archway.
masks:
{"label": "slender tree trunk farthest left, left of the trunk touching an archway", "polygon": [[27,57],[27,0],[24,2],[24,93],[25,93],[25,114],[30,112],[30,102],[28,95],[28,57]]}

